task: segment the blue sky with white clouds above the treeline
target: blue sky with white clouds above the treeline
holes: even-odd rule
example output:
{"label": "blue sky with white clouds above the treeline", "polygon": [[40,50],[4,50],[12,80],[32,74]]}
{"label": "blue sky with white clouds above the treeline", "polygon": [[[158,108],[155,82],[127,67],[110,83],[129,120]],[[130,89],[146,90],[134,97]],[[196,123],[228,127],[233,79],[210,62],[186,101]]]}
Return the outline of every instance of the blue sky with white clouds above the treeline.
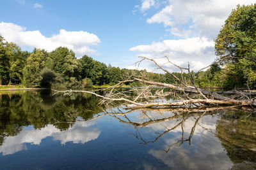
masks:
{"label": "blue sky with white clouds above the treeline", "polygon": [[[250,3],[253,1],[1,0],[0,34],[23,50],[67,46],[77,57],[87,54],[129,68],[138,55],[167,55],[180,65],[191,62],[196,70],[215,59],[213,39],[230,11],[237,4]],[[141,68],[154,69],[150,63]]]}

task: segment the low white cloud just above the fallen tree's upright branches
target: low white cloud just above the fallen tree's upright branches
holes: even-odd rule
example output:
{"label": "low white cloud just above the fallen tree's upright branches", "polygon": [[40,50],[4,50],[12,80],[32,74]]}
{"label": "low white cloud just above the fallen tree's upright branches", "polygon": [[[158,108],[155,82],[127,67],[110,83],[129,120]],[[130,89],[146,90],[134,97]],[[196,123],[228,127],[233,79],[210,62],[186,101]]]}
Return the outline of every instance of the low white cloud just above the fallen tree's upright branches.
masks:
{"label": "low white cloud just above the fallen tree's upright branches", "polygon": [[[198,71],[202,67],[211,64],[216,57],[214,55],[214,42],[207,38],[166,39],[161,42],[152,42],[150,45],[138,45],[130,48],[131,51],[143,53],[152,58],[167,56],[169,59],[182,67]],[[172,64],[166,64],[166,59],[156,59],[159,64],[164,64],[170,71],[178,71]],[[154,65],[154,64],[153,64]],[[151,67],[153,67],[151,65]]]}

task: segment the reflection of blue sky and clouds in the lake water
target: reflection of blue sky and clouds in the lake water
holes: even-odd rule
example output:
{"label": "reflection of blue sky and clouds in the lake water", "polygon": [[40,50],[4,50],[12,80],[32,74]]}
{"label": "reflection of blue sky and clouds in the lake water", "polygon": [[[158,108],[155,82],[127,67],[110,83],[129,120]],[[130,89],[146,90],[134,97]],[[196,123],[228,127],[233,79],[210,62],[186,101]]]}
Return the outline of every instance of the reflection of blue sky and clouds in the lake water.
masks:
{"label": "reflection of blue sky and clouds in the lake water", "polygon": [[[143,115],[131,113],[130,117],[140,122]],[[152,117],[159,116],[152,113]],[[136,118],[137,117],[137,118]],[[207,117],[207,118],[205,118]],[[205,116],[200,125],[215,128],[215,122],[205,124],[218,117]],[[185,136],[188,137],[193,127],[193,118],[184,123]],[[209,122],[208,122],[209,123]],[[155,132],[164,131],[166,126],[172,128],[175,121],[157,123],[148,127],[139,127],[138,131],[154,139]],[[136,133],[131,125],[125,125],[108,116],[89,122],[77,122],[67,131],[60,131],[53,125],[41,130],[24,129],[17,136],[6,138],[0,147],[1,162],[6,168],[139,168],[161,167],[175,169],[198,169],[212,167],[222,169],[232,166],[232,162],[223,150],[218,139],[202,128],[196,128],[192,145],[186,142],[173,146],[166,153],[168,145],[180,140],[181,129],[169,132],[161,140],[148,145],[132,134]],[[147,139],[146,138],[146,139]],[[163,141],[162,141],[163,140]],[[165,145],[166,144],[166,145]],[[218,163],[217,163],[218,162]],[[1,164],[2,164],[1,163]]]}

